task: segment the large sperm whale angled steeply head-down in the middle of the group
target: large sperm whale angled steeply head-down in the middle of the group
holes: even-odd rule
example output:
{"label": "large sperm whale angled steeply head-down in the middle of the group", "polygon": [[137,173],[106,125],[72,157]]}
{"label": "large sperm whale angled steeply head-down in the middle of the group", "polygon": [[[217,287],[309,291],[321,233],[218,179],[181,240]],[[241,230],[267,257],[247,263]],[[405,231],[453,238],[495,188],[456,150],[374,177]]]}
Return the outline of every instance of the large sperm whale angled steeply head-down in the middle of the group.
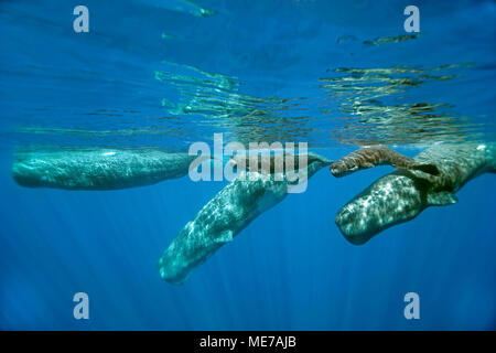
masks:
{"label": "large sperm whale angled steeply head-down in the middle of the group", "polygon": [[[309,153],[308,179],[332,161]],[[251,181],[250,174],[258,178]],[[173,285],[183,284],[191,270],[223,245],[233,240],[258,215],[281,202],[290,183],[240,171],[180,231],[159,260],[160,276]]]}

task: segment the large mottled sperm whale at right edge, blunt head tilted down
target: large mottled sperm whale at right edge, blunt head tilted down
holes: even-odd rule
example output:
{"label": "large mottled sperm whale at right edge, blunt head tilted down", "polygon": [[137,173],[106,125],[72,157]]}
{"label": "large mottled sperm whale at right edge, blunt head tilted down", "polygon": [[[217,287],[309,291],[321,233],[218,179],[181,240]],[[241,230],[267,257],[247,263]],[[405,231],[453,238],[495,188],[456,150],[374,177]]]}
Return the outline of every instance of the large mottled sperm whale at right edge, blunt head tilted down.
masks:
{"label": "large mottled sperm whale at right edge, blunt head tilted down", "polygon": [[440,175],[397,170],[379,178],[336,214],[339,231],[353,244],[412,220],[425,207],[457,202],[467,181],[496,170],[496,143],[440,143],[417,154],[418,163],[438,165]]}

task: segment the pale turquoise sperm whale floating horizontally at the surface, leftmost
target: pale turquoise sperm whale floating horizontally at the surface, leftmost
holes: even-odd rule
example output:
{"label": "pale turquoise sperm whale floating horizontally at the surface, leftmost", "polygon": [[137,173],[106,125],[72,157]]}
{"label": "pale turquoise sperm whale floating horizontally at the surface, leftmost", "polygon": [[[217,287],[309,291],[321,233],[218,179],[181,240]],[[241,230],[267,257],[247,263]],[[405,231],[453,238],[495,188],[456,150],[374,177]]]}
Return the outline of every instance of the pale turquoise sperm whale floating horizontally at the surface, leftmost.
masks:
{"label": "pale turquoise sperm whale floating horizontally at the surface, leftmost", "polygon": [[158,149],[19,150],[12,176],[28,188],[117,190],[184,176],[196,158]]}

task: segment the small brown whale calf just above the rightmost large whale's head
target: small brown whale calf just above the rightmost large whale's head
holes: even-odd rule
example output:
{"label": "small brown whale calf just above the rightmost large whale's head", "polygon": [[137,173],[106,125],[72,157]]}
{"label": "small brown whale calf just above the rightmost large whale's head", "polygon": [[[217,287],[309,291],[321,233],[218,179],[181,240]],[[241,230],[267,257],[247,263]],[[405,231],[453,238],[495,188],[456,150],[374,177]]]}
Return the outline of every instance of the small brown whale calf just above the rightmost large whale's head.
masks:
{"label": "small brown whale calf just above the rightmost large whale's head", "polygon": [[334,176],[341,178],[362,169],[386,164],[397,169],[420,170],[432,175],[439,175],[440,173],[435,164],[418,163],[411,158],[386,147],[360,148],[332,163],[330,169]]}

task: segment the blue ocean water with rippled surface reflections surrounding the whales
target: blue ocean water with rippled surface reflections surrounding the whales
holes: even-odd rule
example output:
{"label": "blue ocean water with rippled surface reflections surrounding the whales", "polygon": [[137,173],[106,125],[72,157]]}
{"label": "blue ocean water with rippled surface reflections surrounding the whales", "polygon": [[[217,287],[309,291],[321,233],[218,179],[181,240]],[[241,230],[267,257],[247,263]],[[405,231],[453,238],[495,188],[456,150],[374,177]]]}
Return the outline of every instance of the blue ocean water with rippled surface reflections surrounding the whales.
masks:
{"label": "blue ocean water with rippled surface reflections surrounding the whales", "polygon": [[[76,33],[73,9],[89,10]],[[0,2],[0,328],[6,330],[494,330],[494,174],[365,245],[335,213],[390,167],[322,170],[196,268],[158,259],[227,182],[24,189],[19,146],[308,142],[338,159],[494,140],[494,1]],[[89,296],[89,320],[73,296]],[[403,296],[420,296],[406,320]]]}

